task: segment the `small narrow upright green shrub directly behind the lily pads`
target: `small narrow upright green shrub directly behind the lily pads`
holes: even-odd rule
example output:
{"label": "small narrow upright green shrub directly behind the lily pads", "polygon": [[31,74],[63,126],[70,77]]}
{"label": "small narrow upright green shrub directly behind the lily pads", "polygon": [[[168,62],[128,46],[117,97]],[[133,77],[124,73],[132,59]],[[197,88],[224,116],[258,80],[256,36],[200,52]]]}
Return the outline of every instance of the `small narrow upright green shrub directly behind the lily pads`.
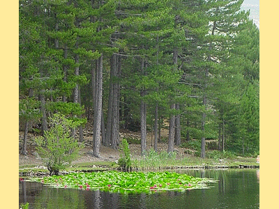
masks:
{"label": "small narrow upright green shrub directly behind the lily pads", "polygon": [[120,144],[120,158],[118,161],[119,166],[123,171],[130,171],[131,170],[131,160],[130,160],[130,149],[127,139],[122,139]]}

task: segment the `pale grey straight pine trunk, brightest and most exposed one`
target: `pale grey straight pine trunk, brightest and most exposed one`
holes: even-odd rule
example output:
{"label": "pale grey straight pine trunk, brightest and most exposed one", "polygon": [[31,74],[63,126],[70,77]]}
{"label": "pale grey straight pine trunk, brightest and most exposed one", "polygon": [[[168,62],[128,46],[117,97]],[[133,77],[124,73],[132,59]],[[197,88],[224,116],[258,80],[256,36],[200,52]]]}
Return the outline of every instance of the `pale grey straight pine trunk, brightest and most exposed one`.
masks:
{"label": "pale grey straight pine trunk, brightest and most exposed one", "polygon": [[103,100],[103,54],[98,59],[96,68],[96,104],[94,109],[93,124],[93,155],[100,157],[100,123],[102,118],[102,100]]}

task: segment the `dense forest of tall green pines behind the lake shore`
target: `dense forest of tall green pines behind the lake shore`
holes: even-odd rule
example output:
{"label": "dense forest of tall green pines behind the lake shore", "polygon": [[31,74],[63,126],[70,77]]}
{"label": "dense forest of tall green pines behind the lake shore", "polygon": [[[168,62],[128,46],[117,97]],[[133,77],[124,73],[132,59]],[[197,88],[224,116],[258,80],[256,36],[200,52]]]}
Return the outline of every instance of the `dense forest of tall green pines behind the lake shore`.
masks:
{"label": "dense forest of tall green pines behind the lake shore", "polygon": [[[41,136],[54,114],[93,122],[93,155],[140,132],[141,153],[175,146],[259,155],[259,29],[243,0],[20,0],[19,118]],[[78,133],[78,134],[77,134]]]}

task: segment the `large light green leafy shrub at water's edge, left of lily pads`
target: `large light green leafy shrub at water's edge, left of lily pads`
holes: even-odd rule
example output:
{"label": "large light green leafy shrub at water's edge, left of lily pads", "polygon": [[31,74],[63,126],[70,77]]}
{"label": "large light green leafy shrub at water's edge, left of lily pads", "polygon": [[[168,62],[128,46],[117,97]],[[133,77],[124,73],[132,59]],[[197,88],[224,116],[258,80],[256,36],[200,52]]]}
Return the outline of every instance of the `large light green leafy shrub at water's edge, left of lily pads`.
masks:
{"label": "large light green leafy shrub at water's edge, left of lily pads", "polygon": [[46,141],[43,137],[36,139],[38,153],[51,176],[58,175],[60,169],[77,158],[83,144],[79,146],[74,137],[71,137],[71,129],[78,125],[78,121],[70,121],[61,114],[54,114],[50,118],[50,130],[45,132]]}

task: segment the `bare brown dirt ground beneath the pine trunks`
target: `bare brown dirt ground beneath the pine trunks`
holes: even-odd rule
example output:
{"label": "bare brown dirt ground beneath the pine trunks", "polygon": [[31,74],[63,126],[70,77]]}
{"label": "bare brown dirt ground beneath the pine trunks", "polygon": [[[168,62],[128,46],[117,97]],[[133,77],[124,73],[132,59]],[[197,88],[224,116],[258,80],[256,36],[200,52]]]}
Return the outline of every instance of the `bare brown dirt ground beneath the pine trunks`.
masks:
{"label": "bare brown dirt ground beneath the pine trunks", "polygon": [[[109,147],[100,146],[100,157],[94,157],[92,155],[93,153],[93,146],[92,146],[92,133],[88,130],[84,130],[84,145],[85,147],[80,151],[80,157],[73,161],[73,164],[77,164],[80,162],[100,162],[100,161],[109,161],[109,162],[115,162],[116,160],[119,160],[119,150],[114,150]],[[23,136],[24,132],[19,133],[19,153],[20,153],[20,147],[23,142]],[[27,167],[27,166],[43,166],[42,160],[40,160],[40,157],[36,153],[36,143],[34,141],[33,134],[29,133],[27,137],[27,155],[21,155],[19,154],[19,166],[20,167]],[[132,137],[134,139],[140,140],[140,132],[130,132],[126,130],[122,130],[120,133],[120,138],[123,139],[123,137]],[[162,130],[161,137],[168,137],[168,130]],[[78,138],[78,136],[77,136]],[[153,147],[153,139],[151,141],[151,133],[147,135],[146,139],[146,148],[149,150]],[[130,153],[132,155],[132,158],[140,158],[141,154],[141,145],[140,144],[130,144]],[[185,148],[178,148],[174,147],[176,150],[178,156],[183,157]],[[158,151],[167,150],[167,144],[165,143],[158,143]]]}

